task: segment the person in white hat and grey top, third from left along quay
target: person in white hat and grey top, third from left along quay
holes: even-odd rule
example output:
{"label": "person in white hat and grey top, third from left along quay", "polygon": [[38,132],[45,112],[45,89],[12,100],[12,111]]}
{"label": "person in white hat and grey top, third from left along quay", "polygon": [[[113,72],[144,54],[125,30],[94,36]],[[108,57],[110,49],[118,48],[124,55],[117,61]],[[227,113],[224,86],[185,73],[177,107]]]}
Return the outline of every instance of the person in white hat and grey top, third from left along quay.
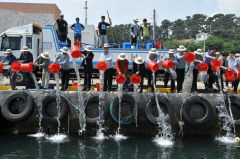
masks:
{"label": "person in white hat and grey top, third from left along quay", "polygon": [[50,80],[50,72],[48,70],[48,66],[50,65],[49,53],[41,53],[41,55],[34,60],[33,65],[42,69],[42,87],[47,89]]}

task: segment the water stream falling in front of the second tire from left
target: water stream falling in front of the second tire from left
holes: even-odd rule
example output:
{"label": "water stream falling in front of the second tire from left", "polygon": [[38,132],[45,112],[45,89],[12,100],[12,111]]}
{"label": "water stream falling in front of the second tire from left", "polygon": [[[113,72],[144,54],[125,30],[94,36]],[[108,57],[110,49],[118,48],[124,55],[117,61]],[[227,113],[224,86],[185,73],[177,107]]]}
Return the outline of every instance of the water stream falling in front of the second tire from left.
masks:
{"label": "water stream falling in front of the second tire from left", "polygon": [[57,103],[57,110],[58,110],[58,134],[60,133],[61,121],[59,120],[61,114],[61,96],[60,96],[60,84],[59,84],[59,75],[58,73],[54,73],[55,81],[56,81],[56,103]]}

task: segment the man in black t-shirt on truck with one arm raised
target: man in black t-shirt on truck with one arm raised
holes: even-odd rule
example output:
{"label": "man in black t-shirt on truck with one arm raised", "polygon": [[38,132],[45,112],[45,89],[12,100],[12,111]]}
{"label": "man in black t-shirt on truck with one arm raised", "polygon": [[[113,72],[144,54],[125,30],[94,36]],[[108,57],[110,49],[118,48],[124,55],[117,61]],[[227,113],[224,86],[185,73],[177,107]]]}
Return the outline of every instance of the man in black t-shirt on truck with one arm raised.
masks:
{"label": "man in black t-shirt on truck with one arm raised", "polygon": [[103,44],[108,43],[107,40],[107,27],[112,25],[112,20],[108,15],[109,23],[105,22],[105,16],[101,17],[101,22],[98,24],[98,36],[99,36],[99,48],[102,47]]}

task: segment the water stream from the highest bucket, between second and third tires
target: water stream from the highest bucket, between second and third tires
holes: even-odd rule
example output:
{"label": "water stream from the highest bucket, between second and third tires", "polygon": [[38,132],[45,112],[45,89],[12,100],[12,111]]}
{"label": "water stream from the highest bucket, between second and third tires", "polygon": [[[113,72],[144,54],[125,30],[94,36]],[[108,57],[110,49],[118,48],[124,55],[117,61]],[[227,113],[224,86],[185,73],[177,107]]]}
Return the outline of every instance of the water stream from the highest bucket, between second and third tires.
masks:
{"label": "water stream from the highest bucket, between second and third tires", "polygon": [[75,69],[75,73],[77,76],[78,81],[78,103],[79,103],[79,126],[80,129],[78,130],[78,134],[82,135],[83,132],[86,130],[86,114],[85,114],[85,104],[81,90],[81,78],[79,75],[79,66],[77,65],[76,59],[73,58],[73,67]]}

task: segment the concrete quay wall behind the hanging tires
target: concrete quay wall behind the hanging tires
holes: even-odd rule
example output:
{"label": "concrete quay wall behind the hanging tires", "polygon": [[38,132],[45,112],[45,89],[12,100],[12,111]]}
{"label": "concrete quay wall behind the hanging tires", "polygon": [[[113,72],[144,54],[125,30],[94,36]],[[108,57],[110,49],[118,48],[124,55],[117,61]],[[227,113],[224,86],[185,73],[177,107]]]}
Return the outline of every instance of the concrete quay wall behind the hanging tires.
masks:
{"label": "concrete quay wall behind the hanging tires", "polygon": [[[0,103],[4,103],[6,97],[11,94],[10,91],[1,91],[0,92]],[[34,97],[35,101],[35,110],[33,114],[26,119],[25,121],[21,121],[18,123],[11,123],[4,119],[0,119],[0,132],[11,133],[14,130],[19,130],[20,133],[29,134],[29,133],[36,133],[38,130],[38,109],[36,107],[36,93],[31,92],[32,96]],[[41,93],[42,98],[48,96],[48,93]],[[87,100],[91,96],[98,95],[97,92],[84,92],[83,96],[84,99]],[[171,121],[171,126],[174,132],[174,135],[177,136],[179,132],[178,121],[180,119],[180,109],[182,102],[188,98],[190,95],[183,95],[183,94],[162,94],[166,96],[170,103],[174,106],[174,119]],[[192,94],[196,95],[196,94]],[[192,96],[191,95],[191,96]],[[203,127],[194,127],[189,125],[185,122],[184,125],[184,134],[185,135],[218,135],[220,132],[225,133],[224,131],[220,131],[219,121],[217,116],[216,106],[221,100],[221,97],[217,94],[198,94],[199,96],[205,98],[210,104],[213,109],[213,117],[209,121],[206,126]],[[77,92],[66,92],[65,96],[71,100],[72,103],[77,105]],[[157,134],[157,126],[152,124],[146,119],[144,108],[145,105],[150,97],[153,94],[151,93],[143,93],[140,94],[139,100],[139,108],[138,108],[138,127],[135,126],[135,123],[129,125],[122,125],[121,126],[121,133],[128,134],[128,135],[155,135]],[[117,93],[105,93],[105,105],[109,108],[110,103],[113,99],[117,97]],[[124,111],[124,107],[122,110]],[[93,110],[94,112],[95,110]],[[240,110],[239,110],[240,111]],[[239,117],[240,118],[240,117]],[[117,130],[118,123],[116,123],[110,116],[107,115],[104,122],[105,133],[107,134],[114,134]],[[47,133],[56,133],[57,124],[50,124],[43,121],[43,128],[44,131]],[[68,118],[62,123],[61,132],[76,134],[79,129],[79,120],[78,120],[78,111],[70,106],[70,114]],[[87,125],[87,131],[85,135],[95,135],[97,130],[97,126],[90,126]],[[237,129],[239,134],[239,129]]]}

